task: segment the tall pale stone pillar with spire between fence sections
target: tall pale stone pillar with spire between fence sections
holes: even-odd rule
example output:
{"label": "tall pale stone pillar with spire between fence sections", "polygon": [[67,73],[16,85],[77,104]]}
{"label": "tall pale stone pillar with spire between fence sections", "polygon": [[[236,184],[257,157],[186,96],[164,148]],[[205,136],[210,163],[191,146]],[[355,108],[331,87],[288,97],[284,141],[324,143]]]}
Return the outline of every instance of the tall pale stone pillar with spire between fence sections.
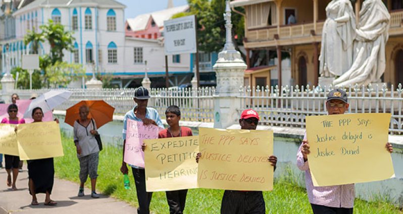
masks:
{"label": "tall pale stone pillar with spire between fence sections", "polygon": [[217,76],[217,88],[214,95],[214,127],[227,128],[239,119],[237,108],[240,106],[239,87],[243,86],[246,64],[232,43],[231,9],[226,1],[224,14],[226,21],[226,42],[218,54],[218,60],[213,66]]}

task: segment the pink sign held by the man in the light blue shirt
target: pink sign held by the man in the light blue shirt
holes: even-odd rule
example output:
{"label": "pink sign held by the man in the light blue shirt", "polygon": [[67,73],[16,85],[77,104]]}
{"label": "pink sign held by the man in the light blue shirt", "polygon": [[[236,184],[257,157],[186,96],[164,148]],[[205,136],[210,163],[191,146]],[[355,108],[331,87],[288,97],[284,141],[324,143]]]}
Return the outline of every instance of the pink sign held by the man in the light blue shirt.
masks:
{"label": "pink sign held by the man in the light blue shirt", "polygon": [[143,122],[127,120],[124,161],[128,164],[144,168],[144,152],[141,149],[144,139],[157,139],[160,127],[144,126]]}

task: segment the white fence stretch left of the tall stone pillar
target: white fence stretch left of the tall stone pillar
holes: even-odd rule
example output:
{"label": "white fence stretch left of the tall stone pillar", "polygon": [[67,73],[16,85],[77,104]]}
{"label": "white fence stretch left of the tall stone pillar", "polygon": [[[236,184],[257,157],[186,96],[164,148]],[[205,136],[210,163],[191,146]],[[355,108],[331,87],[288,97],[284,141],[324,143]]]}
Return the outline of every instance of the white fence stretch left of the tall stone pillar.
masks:
{"label": "white fence stretch left of the tall stone pillar", "polygon": [[[40,95],[49,89],[16,90],[21,99],[29,99],[32,94]],[[70,99],[57,107],[57,110],[66,110],[81,100],[103,99],[114,106],[115,114],[124,115],[134,106],[134,88],[122,89],[69,89],[73,92]],[[186,88],[183,90],[151,89],[148,106],[155,108],[162,118],[169,105],[178,105],[181,108],[181,118],[184,121],[213,122],[213,94],[214,87]]]}

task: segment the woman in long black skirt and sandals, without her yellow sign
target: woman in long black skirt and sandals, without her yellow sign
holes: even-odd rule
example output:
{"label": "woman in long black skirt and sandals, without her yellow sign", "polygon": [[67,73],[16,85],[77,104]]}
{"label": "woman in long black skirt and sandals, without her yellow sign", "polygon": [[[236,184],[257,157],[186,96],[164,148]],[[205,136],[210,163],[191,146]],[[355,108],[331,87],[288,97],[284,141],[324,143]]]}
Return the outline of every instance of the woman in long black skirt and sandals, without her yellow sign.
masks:
{"label": "woman in long black skirt and sandals, without her yellow sign", "polygon": [[[32,110],[33,123],[42,122],[43,112],[42,109],[36,107]],[[56,201],[51,199],[52,188],[55,178],[55,167],[53,164],[53,157],[34,159],[28,162],[28,176],[29,176],[29,193],[32,195],[31,205],[38,205],[36,198],[37,193],[45,193],[44,205],[54,206]]]}

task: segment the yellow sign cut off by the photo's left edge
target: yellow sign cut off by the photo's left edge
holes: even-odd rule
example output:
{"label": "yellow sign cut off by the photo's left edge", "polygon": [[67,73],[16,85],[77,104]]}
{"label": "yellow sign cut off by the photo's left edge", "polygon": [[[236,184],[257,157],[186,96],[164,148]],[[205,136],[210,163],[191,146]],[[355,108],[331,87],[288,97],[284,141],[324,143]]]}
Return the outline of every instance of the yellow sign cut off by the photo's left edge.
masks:
{"label": "yellow sign cut off by the photo's left edge", "polygon": [[18,156],[15,125],[0,124],[0,153]]}

